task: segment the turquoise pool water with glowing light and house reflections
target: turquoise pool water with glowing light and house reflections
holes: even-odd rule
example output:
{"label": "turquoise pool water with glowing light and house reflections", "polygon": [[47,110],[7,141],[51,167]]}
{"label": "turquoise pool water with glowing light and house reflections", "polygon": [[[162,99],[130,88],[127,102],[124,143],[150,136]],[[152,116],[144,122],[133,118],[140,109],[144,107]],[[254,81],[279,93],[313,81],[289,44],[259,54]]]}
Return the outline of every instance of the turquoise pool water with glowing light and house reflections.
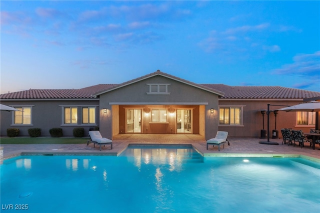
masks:
{"label": "turquoise pool water with glowing light and house reflections", "polygon": [[320,212],[320,164],[302,158],[129,146],[120,156],[18,156],[0,171],[1,212]]}

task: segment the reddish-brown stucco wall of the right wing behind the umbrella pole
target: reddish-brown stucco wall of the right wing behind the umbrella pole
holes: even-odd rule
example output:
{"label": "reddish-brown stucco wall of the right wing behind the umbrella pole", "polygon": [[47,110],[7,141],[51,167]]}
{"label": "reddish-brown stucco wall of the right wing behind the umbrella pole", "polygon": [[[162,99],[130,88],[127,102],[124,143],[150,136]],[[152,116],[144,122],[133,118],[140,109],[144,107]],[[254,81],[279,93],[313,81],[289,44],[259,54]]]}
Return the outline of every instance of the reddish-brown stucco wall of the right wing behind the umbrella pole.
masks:
{"label": "reddish-brown stucco wall of the right wing behind the umbrella pole", "polygon": [[[263,100],[263,99],[255,99],[255,100],[219,100],[219,106],[227,105],[227,106],[237,106],[243,105],[243,116],[242,116],[242,126],[221,126],[219,125],[220,131],[228,131],[229,136],[235,137],[259,137],[260,130],[262,129],[262,114],[261,110],[267,109],[267,104],[271,104],[269,106],[269,110],[275,110],[279,108],[283,108],[285,106],[274,106],[274,105],[295,105],[301,103],[302,99],[280,99],[280,100]],[[296,125],[296,112],[285,112],[278,111],[276,115],[276,129],[278,130],[278,136],[281,135],[281,128],[292,128],[297,130],[303,130],[304,132],[309,132],[310,128],[314,128],[314,126],[302,126]],[[269,114],[269,135],[272,137],[272,130],[275,127],[275,116],[273,111]],[[267,130],[267,114],[264,114],[264,129]]]}

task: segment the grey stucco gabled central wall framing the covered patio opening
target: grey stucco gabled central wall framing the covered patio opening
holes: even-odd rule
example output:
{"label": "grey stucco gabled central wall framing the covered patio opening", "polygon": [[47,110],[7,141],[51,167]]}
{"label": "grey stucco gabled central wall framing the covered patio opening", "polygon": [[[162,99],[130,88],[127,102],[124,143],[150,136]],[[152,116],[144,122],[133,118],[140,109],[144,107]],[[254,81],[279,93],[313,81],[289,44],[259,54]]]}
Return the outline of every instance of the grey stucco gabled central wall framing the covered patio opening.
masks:
{"label": "grey stucco gabled central wall framing the covered patio opening", "polygon": [[[170,83],[170,85],[168,85],[168,92],[170,92],[170,94],[147,94],[146,92],[149,92],[149,85],[147,85],[147,83]],[[102,93],[99,95],[99,99],[101,109],[106,108],[107,110],[111,111],[112,105],[119,105],[118,119],[120,121],[118,132],[110,128],[110,126],[112,126],[112,123],[114,123],[114,121],[112,121],[114,116],[113,112],[110,113],[110,116],[105,115],[100,117],[100,132],[104,137],[111,138],[113,135],[121,133],[121,131],[123,131],[123,120],[125,120],[125,117],[123,117],[123,111],[121,112],[121,105],[183,105],[184,107],[192,107],[194,105],[197,105],[196,109],[194,110],[194,112],[197,114],[195,116],[196,120],[198,120],[198,123],[195,124],[196,132],[203,133],[205,138],[211,138],[215,136],[218,128],[218,117],[212,116],[209,112],[210,108],[217,109],[218,107],[217,94],[161,75],[142,79],[132,84],[128,84],[126,86]],[[199,114],[200,110],[198,105],[203,105],[201,108],[201,113],[204,113],[204,115]],[[200,116],[204,117],[204,119],[200,120]],[[200,124],[200,121],[205,124]],[[205,129],[200,130],[200,126],[202,128],[204,127]],[[165,133],[168,133],[168,131],[171,132],[172,126],[157,127],[165,128],[162,130],[165,131]],[[150,128],[153,128],[153,132],[155,133],[156,127],[150,126]],[[146,130],[146,126],[143,126],[143,131],[144,130]]]}

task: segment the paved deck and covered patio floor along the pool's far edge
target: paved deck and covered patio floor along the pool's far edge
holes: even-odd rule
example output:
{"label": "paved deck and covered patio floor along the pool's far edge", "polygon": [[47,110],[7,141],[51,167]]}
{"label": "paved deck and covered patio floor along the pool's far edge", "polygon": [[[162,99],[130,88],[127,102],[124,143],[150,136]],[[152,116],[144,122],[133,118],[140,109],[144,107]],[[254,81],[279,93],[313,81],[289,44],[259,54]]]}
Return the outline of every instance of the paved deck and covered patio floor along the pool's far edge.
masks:
{"label": "paved deck and covered patio floor along the pool's far edge", "polygon": [[[227,143],[220,147],[209,145],[203,136],[197,134],[118,134],[113,137],[113,148],[105,145],[99,150],[99,146],[93,143],[84,144],[1,144],[3,147],[3,159],[17,155],[27,154],[72,154],[72,155],[118,155],[128,144],[191,144],[203,156],[284,156],[305,157],[320,162],[320,146],[315,149],[306,143],[304,147],[298,145],[281,144],[282,139],[270,138],[269,141],[278,142],[279,145],[261,144],[259,141],[267,141],[258,137],[228,137]],[[1,150],[1,151],[2,151]]]}

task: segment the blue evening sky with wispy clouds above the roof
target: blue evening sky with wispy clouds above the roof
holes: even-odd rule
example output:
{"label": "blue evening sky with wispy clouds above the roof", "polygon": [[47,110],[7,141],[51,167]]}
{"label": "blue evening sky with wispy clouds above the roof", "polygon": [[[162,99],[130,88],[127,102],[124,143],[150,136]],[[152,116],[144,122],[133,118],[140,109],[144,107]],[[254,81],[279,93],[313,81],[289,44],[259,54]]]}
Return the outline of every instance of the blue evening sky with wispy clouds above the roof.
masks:
{"label": "blue evening sky with wispy clouds above the roof", "polygon": [[320,1],[0,1],[0,92],[121,83],[320,91]]}

